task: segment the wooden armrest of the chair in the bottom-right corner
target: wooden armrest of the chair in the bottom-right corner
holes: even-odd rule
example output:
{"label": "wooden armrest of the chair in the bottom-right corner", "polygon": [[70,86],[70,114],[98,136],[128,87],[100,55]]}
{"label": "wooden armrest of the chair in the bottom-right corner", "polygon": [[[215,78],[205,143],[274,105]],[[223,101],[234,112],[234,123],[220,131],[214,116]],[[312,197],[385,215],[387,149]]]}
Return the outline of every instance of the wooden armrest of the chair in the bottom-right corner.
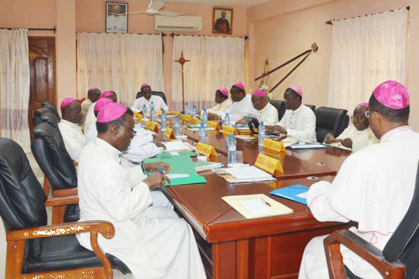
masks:
{"label": "wooden armrest of the chair in the bottom-right corner", "polygon": [[332,232],[323,241],[328,262],[330,279],[348,278],[343,258],[340,252],[340,244],[346,246],[352,252],[372,264],[384,278],[399,279],[404,278],[406,266],[400,262],[388,262],[381,250],[368,243],[364,239],[349,231],[348,229],[339,229]]}

